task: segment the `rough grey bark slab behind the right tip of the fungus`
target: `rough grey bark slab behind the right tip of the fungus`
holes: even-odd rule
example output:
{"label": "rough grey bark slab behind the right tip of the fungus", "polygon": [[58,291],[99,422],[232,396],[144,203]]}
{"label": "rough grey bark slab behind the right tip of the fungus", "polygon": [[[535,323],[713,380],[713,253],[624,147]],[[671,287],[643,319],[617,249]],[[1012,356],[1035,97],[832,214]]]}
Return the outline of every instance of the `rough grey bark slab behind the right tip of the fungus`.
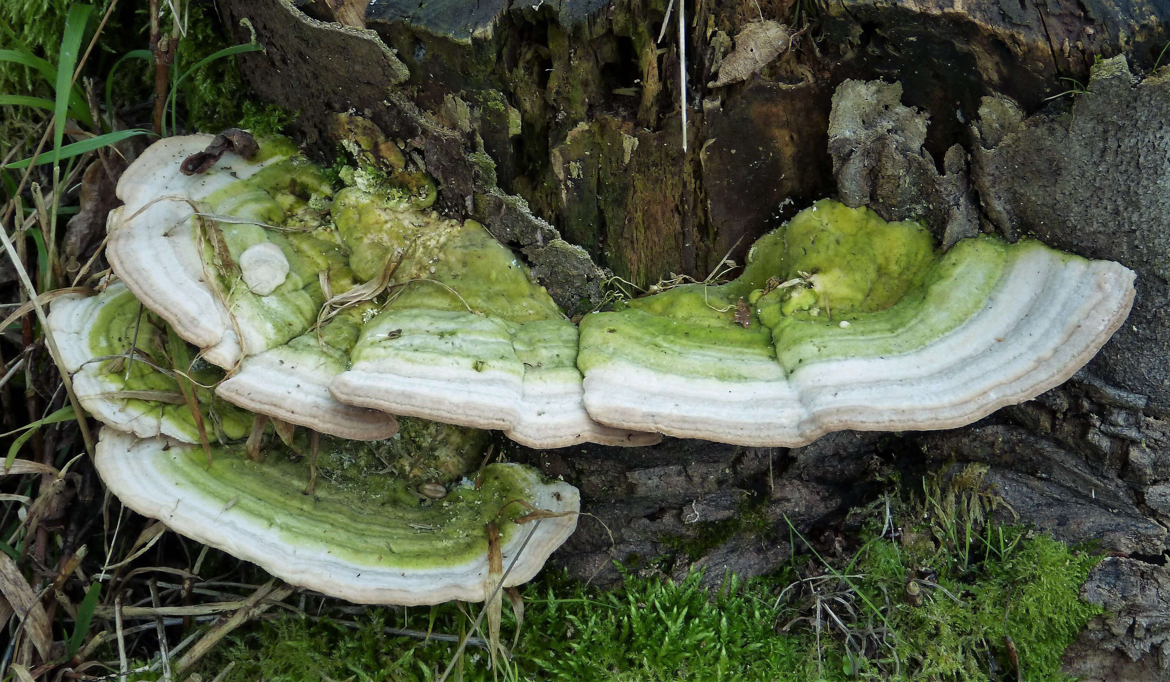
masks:
{"label": "rough grey bark slab behind the right tip of the fungus", "polygon": [[1170,414],[1170,77],[1138,83],[1121,57],[1093,73],[1071,111],[1023,119],[989,101],[975,184],[1010,239],[1037,236],[1137,273],[1129,319],[1089,367]]}

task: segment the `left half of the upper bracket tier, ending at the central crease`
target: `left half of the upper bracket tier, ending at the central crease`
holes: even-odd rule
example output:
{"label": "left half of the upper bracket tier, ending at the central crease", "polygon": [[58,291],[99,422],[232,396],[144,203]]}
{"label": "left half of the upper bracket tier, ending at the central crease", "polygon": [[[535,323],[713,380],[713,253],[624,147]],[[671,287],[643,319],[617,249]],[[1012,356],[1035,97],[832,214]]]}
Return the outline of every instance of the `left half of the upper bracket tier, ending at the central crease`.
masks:
{"label": "left half of the upper bracket tier, ending at the central crease", "polygon": [[358,170],[335,195],[282,139],[183,174],[208,140],[167,138],[131,165],[109,253],[150,309],[229,368],[220,397],[358,440],[393,433],[390,413],[534,447],[656,440],[589,418],[577,328],[482,226],[424,209],[429,179]]}

